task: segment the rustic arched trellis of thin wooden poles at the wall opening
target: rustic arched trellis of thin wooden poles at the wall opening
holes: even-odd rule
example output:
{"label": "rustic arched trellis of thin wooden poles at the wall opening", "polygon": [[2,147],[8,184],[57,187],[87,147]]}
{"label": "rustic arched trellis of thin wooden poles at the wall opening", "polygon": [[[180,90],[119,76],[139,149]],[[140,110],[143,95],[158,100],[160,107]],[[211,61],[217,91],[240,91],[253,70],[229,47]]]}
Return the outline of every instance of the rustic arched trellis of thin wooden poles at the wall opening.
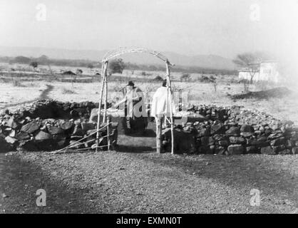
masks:
{"label": "rustic arched trellis of thin wooden poles at the wall opening", "polygon": [[[104,102],[104,110],[103,110],[103,120],[102,123],[106,123],[107,125],[107,136],[109,135],[109,118],[107,117],[107,100],[108,100],[108,61],[111,58],[115,58],[118,56],[121,56],[125,53],[149,53],[153,56],[156,56],[157,58],[160,58],[160,60],[165,62],[166,66],[166,80],[167,80],[167,103],[170,104],[170,118],[168,116],[165,116],[165,123],[169,123],[171,126],[171,153],[174,153],[174,121],[173,121],[173,98],[172,98],[172,88],[171,88],[171,81],[170,81],[170,66],[173,66],[173,64],[170,63],[168,58],[163,56],[161,53],[153,50],[149,50],[147,48],[119,48],[118,50],[109,51],[106,53],[105,56],[103,56],[102,60],[102,66],[101,66],[101,93],[99,98],[99,105],[98,105],[98,121],[97,121],[97,134],[96,134],[96,151],[98,150],[99,145],[99,131],[101,126],[101,104]],[[103,101],[103,95],[104,95],[104,101]],[[168,104],[166,105],[168,107]],[[161,150],[161,123],[160,118],[157,118],[156,123],[156,147],[157,152],[160,152]],[[108,150],[110,149],[110,140],[108,139]]]}

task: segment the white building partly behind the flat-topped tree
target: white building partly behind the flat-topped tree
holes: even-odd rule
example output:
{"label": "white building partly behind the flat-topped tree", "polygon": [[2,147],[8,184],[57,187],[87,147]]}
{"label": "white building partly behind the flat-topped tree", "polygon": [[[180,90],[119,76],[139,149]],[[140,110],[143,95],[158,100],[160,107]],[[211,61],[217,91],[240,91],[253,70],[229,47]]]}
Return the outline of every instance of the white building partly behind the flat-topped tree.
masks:
{"label": "white building partly behind the flat-topped tree", "polygon": [[[272,81],[274,83],[279,83],[282,77],[277,70],[277,62],[275,61],[263,61],[257,65],[260,65],[255,72],[253,81]],[[242,69],[239,71],[239,79],[247,79],[250,81],[252,71],[249,69]]]}

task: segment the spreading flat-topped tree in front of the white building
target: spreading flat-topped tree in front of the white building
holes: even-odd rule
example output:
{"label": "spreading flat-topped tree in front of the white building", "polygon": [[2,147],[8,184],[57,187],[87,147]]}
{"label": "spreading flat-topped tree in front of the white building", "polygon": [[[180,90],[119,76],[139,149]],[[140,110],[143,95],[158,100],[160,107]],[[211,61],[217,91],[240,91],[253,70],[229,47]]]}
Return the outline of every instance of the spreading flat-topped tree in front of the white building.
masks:
{"label": "spreading flat-topped tree in front of the white building", "polygon": [[233,60],[233,62],[241,67],[245,68],[250,73],[250,83],[255,77],[255,74],[260,71],[260,63],[268,59],[268,55],[265,53],[242,53],[237,55],[237,57]]}

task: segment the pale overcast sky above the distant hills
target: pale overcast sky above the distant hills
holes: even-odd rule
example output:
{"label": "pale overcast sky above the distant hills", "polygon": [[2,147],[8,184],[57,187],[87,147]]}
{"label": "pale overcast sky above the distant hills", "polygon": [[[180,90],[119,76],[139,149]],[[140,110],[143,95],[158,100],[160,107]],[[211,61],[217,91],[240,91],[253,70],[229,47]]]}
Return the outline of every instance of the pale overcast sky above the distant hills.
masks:
{"label": "pale overcast sky above the distant hills", "polygon": [[297,31],[298,0],[0,0],[0,46],[294,55]]}

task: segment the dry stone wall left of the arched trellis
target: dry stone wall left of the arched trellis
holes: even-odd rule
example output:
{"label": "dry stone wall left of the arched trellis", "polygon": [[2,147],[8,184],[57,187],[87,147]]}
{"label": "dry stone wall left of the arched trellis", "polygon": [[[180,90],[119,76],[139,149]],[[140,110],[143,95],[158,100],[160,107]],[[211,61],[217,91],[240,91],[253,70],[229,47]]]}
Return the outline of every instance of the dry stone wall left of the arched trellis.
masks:
{"label": "dry stone wall left of the arched trellis", "polygon": [[[31,105],[0,115],[0,152],[9,150],[43,151],[58,150],[96,131],[96,123],[89,123],[89,115],[98,104],[61,103],[56,100],[38,100]],[[100,145],[106,149],[106,128],[100,131]],[[117,123],[111,124],[111,144],[117,143]],[[91,135],[83,145],[91,147],[96,138]]]}

